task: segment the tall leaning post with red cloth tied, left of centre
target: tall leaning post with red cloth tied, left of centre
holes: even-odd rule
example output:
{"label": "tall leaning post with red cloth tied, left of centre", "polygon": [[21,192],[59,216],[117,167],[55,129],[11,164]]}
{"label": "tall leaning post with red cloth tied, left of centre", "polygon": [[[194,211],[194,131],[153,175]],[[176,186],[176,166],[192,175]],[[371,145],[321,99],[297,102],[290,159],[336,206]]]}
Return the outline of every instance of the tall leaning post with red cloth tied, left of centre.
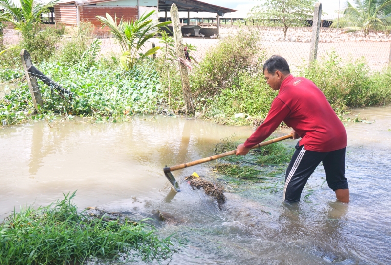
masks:
{"label": "tall leaning post with red cloth tied, left of centre", "polygon": [[176,46],[176,56],[178,57],[177,59],[179,61],[180,77],[182,80],[183,98],[186,104],[186,113],[194,114],[192,91],[190,90],[190,85],[189,85],[189,75],[187,72],[187,66],[183,63],[185,62],[186,58],[185,58],[185,48],[183,46],[183,40],[182,40],[182,30],[180,28],[179,12],[175,4],[171,5],[170,14],[171,14],[171,21],[173,25],[173,33],[174,33],[174,40]]}

